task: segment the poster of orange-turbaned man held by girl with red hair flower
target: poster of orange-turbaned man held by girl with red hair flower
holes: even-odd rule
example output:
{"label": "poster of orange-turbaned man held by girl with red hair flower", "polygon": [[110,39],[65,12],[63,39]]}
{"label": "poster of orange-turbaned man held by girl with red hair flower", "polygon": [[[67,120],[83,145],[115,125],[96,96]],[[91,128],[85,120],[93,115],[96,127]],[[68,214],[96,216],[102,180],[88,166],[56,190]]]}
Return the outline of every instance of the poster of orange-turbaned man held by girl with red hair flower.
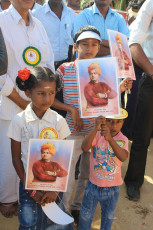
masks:
{"label": "poster of orange-turbaned man held by girl with red hair flower", "polygon": [[25,188],[65,192],[72,151],[73,141],[31,139]]}

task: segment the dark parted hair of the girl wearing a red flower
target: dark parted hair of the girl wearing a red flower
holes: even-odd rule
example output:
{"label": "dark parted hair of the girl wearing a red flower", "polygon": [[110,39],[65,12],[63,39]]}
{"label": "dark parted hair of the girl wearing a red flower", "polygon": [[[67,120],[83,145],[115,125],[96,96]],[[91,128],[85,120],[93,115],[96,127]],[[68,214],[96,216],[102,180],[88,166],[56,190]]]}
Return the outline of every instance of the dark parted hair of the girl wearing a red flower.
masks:
{"label": "dark parted hair of the girl wearing a red flower", "polygon": [[38,84],[42,81],[49,81],[56,83],[56,91],[60,90],[61,84],[60,79],[57,74],[54,74],[49,68],[47,67],[34,67],[30,70],[30,76],[28,80],[21,80],[19,76],[16,77],[16,84],[18,88],[22,91],[31,90],[35,88]]}

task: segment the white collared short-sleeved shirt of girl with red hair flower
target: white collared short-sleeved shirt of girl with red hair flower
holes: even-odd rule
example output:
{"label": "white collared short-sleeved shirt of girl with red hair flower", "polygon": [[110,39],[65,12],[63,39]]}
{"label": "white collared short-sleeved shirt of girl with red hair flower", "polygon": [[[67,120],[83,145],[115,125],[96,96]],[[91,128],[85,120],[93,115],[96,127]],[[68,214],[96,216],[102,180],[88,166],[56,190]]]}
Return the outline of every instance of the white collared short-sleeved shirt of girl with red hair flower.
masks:
{"label": "white collared short-sleeved shirt of girl with red hair flower", "polygon": [[[41,131],[52,128],[57,132],[58,139],[63,140],[71,134],[66,120],[55,111],[48,109],[40,120],[28,105],[11,121],[8,137],[21,142],[22,162],[26,170],[29,139],[40,138]],[[55,138],[49,138],[55,139]]]}

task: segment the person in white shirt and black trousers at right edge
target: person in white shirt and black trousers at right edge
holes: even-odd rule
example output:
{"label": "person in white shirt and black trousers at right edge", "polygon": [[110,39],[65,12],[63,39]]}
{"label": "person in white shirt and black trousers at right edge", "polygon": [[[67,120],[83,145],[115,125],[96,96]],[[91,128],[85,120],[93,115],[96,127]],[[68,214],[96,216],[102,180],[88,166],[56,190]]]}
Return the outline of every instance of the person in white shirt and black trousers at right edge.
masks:
{"label": "person in white shirt and black trousers at right edge", "polygon": [[[142,5],[130,33],[130,51],[135,63],[145,72],[139,82],[136,123],[130,161],[125,176],[130,200],[140,199],[147,151],[153,130],[153,1]],[[143,47],[142,47],[143,45]]]}

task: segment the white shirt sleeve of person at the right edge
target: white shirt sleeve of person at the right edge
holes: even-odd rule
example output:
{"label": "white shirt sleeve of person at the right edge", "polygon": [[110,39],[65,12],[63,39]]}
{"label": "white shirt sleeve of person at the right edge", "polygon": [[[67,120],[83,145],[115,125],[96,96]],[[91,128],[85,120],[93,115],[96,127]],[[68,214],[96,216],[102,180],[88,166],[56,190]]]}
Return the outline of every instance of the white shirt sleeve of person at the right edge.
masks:
{"label": "white shirt sleeve of person at the right edge", "polygon": [[132,23],[129,45],[138,43],[153,64],[153,0],[147,0]]}

